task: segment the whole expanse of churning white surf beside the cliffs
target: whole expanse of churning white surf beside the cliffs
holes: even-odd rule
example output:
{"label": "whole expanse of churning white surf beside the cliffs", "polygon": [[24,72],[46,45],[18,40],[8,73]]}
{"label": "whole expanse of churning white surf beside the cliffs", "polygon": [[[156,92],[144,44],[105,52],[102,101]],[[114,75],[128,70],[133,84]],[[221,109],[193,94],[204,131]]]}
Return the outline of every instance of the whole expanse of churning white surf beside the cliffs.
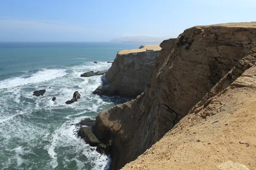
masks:
{"label": "whole expanse of churning white surf beside the cliffs", "polygon": [[[70,67],[68,68],[69,71],[67,71],[69,74],[64,69],[43,69],[28,78],[16,77],[0,81],[0,93],[4,94],[0,98],[0,103],[3,103],[3,108],[0,108],[0,125],[2,122],[0,132],[3,133],[0,134],[3,134],[4,142],[1,144],[6,146],[6,150],[11,147],[9,144],[10,140],[19,138],[22,139],[22,142],[29,143],[29,146],[26,146],[25,150],[31,147],[41,147],[44,149],[45,154],[50,159],[50,161],[41,160],[40,164],[42,162],[45,164],[44,169],[57,169],[61,167],[62,165],[58,164],[59,160],[63,161],[64,167],[68,167],[71,161],[73,163],[75,161],[77,169],[84,169],[87,165],[93,167],[93,170],[108,169],[111,162],[110,157],[96,152],[96,147],[90,147],[83,139],[77,138],[74,133],[76,128],[74,124],[84,118],[90,117],[84,116],[87,112],[95,112],[90,113],[91,118],[95,118],[94,116],[99,113],[100,109],[105,109],[108,108],[108,105],[113,105],[111,100],[108,101],[108,97],[100,97],[92,94],[92,91],[101,85],[102,76],[80,77],[80,74],[90,70],[108,70],[111,63],[102,62],[100,64],[94,64],[92,62],[89,64],[91,65]],[[64,75],[66,76],[63,77]],[[61,78],[55,79],[57,77]],[[3,88],[3,86],[5,87]],[[51,88],[48,89],[48,87]],[[5,88],[7,88],[7,92]],[[33,91],[41,89],[46,89],[47,91],[44,96],[32,96]],[[71,105],[65,104],[67,100],[72,99],[75,91],[79,91],[81,99]],[[56,97],[55,102],[50,99],[53,96]],[[9,99],[8,101],[10,102],[5,102],[6,99]],[[17,111],[9,111],[8,107],[13,110],[17,108]],[[64,116],[60,116],[62,113],[58,113],[61,110],[64,111]],[[69,111],[69,113],[65,111]],[[40,115],[42,112],[46,114],[45,117]],[[1,117],[2,114],[5,116]],[[23,114],[26,115],[19,116]],[[37,114],[40,117],[37,117]],[[46,121],[48,119],[49,121],[49,117],[52,114],[56,114],[54,118],[59,117],[58,119],[62,119],[60,121],[66,122],[56,125],[52,125],[51,123],[49,125],[37,126],[26,119],[28,122],[24,123],[24,117],[31,117],[32,121],[35,120],[38,122],[41,121],[40,119],[45,119]],[[56,127],[52,132],[53,126]],[[38,137],[40,138],[39,141]],[[67,148],[67,150],[63,150],[63,148]],[[17,150],[21,151],[17,152],[22,153],[24,148],[21,147]],[[16,167],[17,169],[23,167],[24,164],[26,166],[30,165],[33,168],[37,166],[35,164],[31,165],[33,164],[31,160],[23,159],[24,156],[20,153],[16,153],[15,151],[15,159],[12,158],[12,161],[17,161],[17,166],[20,166],[19,168]],[[69,156],[64,160],[66,155]],[[88,160],[83,160],[84,156]]]}

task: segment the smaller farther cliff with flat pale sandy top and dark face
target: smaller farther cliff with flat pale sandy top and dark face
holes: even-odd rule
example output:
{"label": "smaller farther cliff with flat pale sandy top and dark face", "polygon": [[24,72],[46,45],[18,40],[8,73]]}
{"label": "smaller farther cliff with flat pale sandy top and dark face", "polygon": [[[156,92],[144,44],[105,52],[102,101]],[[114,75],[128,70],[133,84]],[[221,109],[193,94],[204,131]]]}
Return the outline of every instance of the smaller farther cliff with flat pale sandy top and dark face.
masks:
{"label": "smaller farther cliff with flat pale sandy top and dark face", "polygon": [[111,68],[105,74],[107,81],[110,82],[105,94],[130,98],[140,95],[154,71],[160,50],[159,45],[142,45],[139,49],[119,51]]}

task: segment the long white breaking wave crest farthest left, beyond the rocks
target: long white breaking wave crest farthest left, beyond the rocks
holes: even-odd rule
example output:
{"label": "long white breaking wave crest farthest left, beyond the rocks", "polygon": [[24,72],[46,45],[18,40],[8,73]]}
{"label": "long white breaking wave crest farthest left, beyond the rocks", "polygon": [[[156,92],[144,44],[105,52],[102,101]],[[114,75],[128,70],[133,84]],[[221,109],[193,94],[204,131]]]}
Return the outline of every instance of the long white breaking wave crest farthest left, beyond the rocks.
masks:
{"label": "long white breaking wave crest farthest left, beyond the rocks", "polygon": [[14,77],[0,81],[0,89],[2,88],[13,88],[20,85],[26,85],[30,83],[44,82],[57,77],[63,77],[67,73],[64,69],[42,69],[35,74],[32,74],[31,77]]}

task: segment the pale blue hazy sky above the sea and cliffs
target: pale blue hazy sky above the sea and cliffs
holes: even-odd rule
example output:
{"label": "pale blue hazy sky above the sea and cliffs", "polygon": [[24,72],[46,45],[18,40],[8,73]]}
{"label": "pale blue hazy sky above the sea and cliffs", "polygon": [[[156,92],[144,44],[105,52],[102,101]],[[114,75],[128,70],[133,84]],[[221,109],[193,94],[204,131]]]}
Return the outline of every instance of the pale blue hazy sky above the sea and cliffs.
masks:
{"label": "pale blue hazy sky above the sea and cliffs", "polygon": [[0,0],[0,42],[86,42],[256,21],[256,0]]}

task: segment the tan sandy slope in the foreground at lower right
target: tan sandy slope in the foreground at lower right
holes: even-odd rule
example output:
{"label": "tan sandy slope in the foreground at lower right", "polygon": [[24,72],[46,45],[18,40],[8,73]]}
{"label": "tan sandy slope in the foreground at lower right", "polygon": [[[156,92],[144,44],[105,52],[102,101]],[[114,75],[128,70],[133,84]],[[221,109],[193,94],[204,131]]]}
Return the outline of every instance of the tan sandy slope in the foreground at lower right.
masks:
{"label": "tan sandy slope in the foreground at lower right", "polygon": [[211,89],[212,97],[122,169],[256,169],[255,62],[256,46]]}

